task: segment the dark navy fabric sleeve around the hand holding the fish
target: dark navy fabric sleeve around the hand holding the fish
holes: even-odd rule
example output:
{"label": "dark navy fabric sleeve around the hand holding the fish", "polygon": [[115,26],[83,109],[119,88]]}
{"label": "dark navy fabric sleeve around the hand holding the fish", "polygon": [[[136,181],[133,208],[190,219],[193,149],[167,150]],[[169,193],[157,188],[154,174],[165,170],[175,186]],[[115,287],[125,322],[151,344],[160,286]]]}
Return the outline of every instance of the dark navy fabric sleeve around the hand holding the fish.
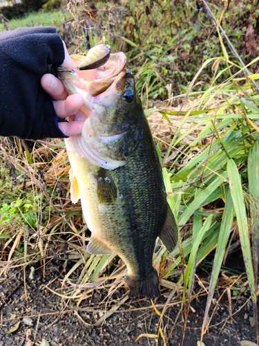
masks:
{"label": "dark navy fabric sleeve around the hand holding the fish", "polygon": [[41,77],[64,61],[56,28],[19,28],[0,33],[0,136],[59,138],[57,114]]}

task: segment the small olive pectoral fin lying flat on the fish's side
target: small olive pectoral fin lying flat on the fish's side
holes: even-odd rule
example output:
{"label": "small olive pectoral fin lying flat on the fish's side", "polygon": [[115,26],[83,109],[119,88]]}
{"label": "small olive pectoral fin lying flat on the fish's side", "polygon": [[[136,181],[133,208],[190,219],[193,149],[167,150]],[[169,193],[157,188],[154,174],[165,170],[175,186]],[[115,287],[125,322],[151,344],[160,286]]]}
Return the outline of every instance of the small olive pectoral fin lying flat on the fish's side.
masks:
{"label": "small olive pectoral fin lying flat on the fish's side", "polygon": [[96,174],[97,179],[97,197],[99,203],[113,203],[117,198],[117,188],[111,176],[101,168]]}

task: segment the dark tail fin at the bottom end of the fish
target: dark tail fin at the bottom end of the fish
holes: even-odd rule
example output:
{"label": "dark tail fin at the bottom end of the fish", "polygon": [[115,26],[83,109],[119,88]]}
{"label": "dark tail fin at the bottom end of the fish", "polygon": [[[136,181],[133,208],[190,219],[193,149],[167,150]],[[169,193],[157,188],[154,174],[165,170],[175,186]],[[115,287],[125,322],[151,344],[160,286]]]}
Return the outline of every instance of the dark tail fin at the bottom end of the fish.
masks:
{"label": "dark tail fin at the bottom end of the fish", "polygon": [[136,277],[126,275],[124,280],[128,284],[128,296],[130,298],[139,297],[140,295],[146,298],[160,297],[159,280],[155,268],[144,279],[137,279]]}

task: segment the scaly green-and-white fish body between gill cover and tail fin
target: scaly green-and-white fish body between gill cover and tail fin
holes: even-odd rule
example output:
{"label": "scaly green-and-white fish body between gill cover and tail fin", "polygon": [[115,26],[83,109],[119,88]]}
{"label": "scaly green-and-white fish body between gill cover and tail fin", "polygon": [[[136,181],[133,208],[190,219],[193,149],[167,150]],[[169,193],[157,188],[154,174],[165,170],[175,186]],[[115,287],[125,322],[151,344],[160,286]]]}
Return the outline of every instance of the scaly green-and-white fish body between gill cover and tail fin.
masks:
{"label": "scaly green-and-white fish body between gill cover and tail fin", "polygon": [[138,122],[143,129],[141,143],[126,165],[108,170],[117,188],[113,203],[99,206],[96,176],[99,167],[79,156],[73,156],[73,159],[70,156],[70,161],[72,167],[84,165],[84,174],[74,173],[80,195],[84,195],[81,203],[83,210],[87,210],[89,229],[122,258],[128,276],[148,277],[153,273],[155,240],[166,217],[166,194],[144,113],[139,114]]}

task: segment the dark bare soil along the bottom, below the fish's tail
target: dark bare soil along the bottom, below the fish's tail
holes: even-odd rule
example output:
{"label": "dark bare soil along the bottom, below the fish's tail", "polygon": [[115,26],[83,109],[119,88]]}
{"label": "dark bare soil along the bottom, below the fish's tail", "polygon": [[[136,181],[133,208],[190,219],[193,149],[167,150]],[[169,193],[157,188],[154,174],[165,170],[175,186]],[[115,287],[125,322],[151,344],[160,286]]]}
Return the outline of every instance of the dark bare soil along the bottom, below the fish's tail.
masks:
{"label": "dark bare soil along the bottom, below the fish's tail", "polygon": [[[35,280],[29,278],[30,268],[25,275],[21,271],[12,272],[0,279],[0,346],[40,345],[44,338],[50,346],[164,345],[161,336],[158,340],[143,336],[135,342],[141,334],[155,336],[159,326],[165,338],[169,338],[166,345],[182,344],[184,323],[180,304],[169,307],[160,323],[160,316],[153,309],[150,300],[125,298],[124,304],[121,304],[119,309],[101,325],[85,325],[82,320],[89,324],[96,323],[102,318],[104,314],[102,311],[110,310],[117,302],[122,301],[124,296],[126,297],[126,291],[123,287],[118,289],[107,302],[105,291],[98,290],[82,300],[77,307],[75,301],[65,301],[58,295],[62,278],[58,273],[59,266],[58,262],[52,262],[47,268],[45,277],[39,268],[35,271]],[[52,283],[49,284],[50,282]],[[164,293],[155,302],[160,313],[169,293]],[[221,293],[218,291],[215,299]],[[184,346],[197,346],[197,341],[200,340],[206,299],[206,296],[200,296],[191,302],[182,344]],[[249,323],[249,316],[252,316],[251,304],[245,297],[231,299],[231,303],[232,318],[229,315],[227,293],[224,294],[213,314],[211,327],[204,336],[203,342],[206,346],[240,345],[240,340],[256,343],[256,330]],[[214,307],[215,305],[212,308]],[[32,325],[22,322],[26,316],[31,318]],[[17,321],[21,321],[17,331],[6,334]]]}

